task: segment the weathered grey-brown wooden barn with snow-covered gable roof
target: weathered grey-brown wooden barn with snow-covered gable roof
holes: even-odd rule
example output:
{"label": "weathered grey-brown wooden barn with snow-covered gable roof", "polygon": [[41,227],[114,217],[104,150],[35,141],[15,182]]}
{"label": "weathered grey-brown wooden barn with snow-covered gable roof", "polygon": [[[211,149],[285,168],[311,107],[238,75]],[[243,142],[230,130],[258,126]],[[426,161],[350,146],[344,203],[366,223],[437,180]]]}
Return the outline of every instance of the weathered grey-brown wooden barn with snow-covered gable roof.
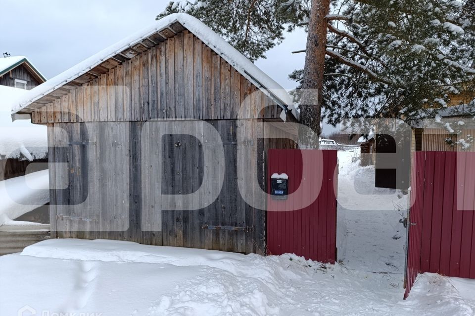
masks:
{"label": "weathered grey-brown wooden barn with snow-covered gable roof", "polygon": [[[36,87],[14,113],[47,125],[51,237],[264,254],[266,214],[239,194],[238,177],[247,175],[238,173],[237,148],[253,153],[254,159],[241,163],[266,189],[267,150],[295,148],[296,129],[275,124],[296,121],[287,104],[279,84],[181,13]],[[158,190],[190,194],[206,170],[223,163],[205,162],[201,147],[207,144],[196,137],[170,133],[168,126],[177,120],[204,120],[224,145],[222,191],[199,210],[156,209]],[[244,121],[253,136],[242,141],[236,130]],[[264,121],[275,127],[263,127]],[[279,137],[266,139],[270,129]],[[150,141],[161,133],[161,142]]]}

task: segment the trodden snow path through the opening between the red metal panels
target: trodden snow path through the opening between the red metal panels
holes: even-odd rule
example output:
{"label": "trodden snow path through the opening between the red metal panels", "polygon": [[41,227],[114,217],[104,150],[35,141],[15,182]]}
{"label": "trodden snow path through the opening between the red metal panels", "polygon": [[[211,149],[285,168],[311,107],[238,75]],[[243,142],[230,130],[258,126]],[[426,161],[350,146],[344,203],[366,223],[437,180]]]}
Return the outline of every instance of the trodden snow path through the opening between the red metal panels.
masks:
{"label": "trodden snow path through the opening between the red metal panels", "polygon": [[359,149],[338,152],[338,260],[348,269],[386,274],[402,285],[407,194],[375,188],[374,166],[360,167]]}

